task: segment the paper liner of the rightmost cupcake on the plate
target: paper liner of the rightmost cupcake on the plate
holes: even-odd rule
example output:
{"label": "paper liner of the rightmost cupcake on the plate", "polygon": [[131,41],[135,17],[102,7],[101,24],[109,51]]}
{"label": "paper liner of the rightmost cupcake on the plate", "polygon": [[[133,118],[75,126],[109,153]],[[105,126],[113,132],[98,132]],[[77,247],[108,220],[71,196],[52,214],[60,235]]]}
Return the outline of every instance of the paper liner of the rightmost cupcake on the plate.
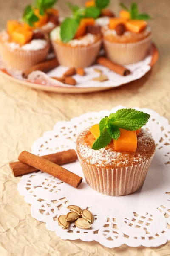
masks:
{"label": "paper liner of the rightmost cupcake on the plate", "polygon": [[107,57],[118,64],[127,65],[142,61],[151,45],[152,35],[135,43],[114,43],[103,39]]}

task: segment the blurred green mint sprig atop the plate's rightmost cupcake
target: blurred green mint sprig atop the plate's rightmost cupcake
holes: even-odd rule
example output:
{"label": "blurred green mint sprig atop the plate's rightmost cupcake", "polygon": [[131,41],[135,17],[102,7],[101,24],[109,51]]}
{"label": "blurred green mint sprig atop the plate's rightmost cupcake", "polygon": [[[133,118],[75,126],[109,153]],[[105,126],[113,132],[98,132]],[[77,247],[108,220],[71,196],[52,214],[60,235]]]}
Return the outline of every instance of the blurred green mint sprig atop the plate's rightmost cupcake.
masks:
{"label": "blurred green mint sprig atop the plate's rightmost cupcake", "polygon": [[151,19],[151,17],[147,13],[139,13],[138,5],[135,2],[131,3],[130,9],[128,9],[124,3],[120,3],[119,5],[122,7],[122,9],[130,12],[131,20],[150,20]]}

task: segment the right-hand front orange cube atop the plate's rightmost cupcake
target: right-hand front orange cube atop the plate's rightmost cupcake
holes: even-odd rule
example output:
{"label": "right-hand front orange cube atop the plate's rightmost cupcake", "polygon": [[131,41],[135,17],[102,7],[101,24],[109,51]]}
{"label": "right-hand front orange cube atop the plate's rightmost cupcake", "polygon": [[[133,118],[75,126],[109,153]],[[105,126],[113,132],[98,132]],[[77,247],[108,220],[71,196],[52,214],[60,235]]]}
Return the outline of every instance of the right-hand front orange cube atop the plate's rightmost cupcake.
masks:
{"label": "right-hand front orange cube atop the plate's rightmost cupcake", "polygon": [[127,30],[140,33],[147,26],[147,22],[145,20],[128,20],[125,23],[125,27]]}

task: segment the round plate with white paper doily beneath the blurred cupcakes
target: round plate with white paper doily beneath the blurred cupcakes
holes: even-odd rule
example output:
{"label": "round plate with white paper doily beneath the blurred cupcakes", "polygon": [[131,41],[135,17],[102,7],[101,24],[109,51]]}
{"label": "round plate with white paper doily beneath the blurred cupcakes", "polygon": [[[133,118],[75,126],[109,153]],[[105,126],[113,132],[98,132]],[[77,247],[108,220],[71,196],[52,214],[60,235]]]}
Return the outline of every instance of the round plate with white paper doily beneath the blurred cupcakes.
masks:
{"label": "round plate with white paper doily beneath the blurred cupcakes", "polygon": [[[40,73],[43,80],[41,84],[38,82],[31,82],[31,81],[18,78],[18,76],[14,76],[14,74],[12,75],[4,68],[0,69],[0,74],[6,77],[7,79],[9,79],[11,82],[17,82],[23,86],[30,87],[36,90],[45,90],[45,91],[50,91],[55,93],[91,93],[91,92],[109,90],[111,88],[119,87],[123,84],[127,84],[131,81],[140,79],[150,70],[150,68],[153,67],[153,65],[158,60],[158,57],[159,57],[158,49],[156,48],[155,44],[152,44],[149,55],[147,55],[147,57],[143,61],[138,62],[136,64],[127,65],[127,67],[132,71],[132,74],[130,74],[129,76],[120,76],[114,73],[113,71],[108,70],[108,68],[106,67],[102,67],[100,65],[94,65],[86,68],[88,76],[80,77],[76,75],[78,76],[76,77],[76,79],[79,80],[77,86],[62,84],[61,82],[56,81],[54,79],[50,79],[50,81],[45,82],[45,79],[48,77],[43,72]],[[98,67],[102,69],[103,73],[105,73],[108,76],[109,80],[105,82],[92,81],[91,78],[94,77],[94,73],[96,73],[94,72],[94,67]],[[48,76],[57,76],[55,74],[57,72],[60,73],[59,68],[61,68],[61,66],[57,67],[56,71],[51,70],[50,72],[48,72]],[[64,70],[64,68],[65,67],[62,67],[62,70]],[[95,77],[96,76],[98,76],[97,73],[95,74]]]}

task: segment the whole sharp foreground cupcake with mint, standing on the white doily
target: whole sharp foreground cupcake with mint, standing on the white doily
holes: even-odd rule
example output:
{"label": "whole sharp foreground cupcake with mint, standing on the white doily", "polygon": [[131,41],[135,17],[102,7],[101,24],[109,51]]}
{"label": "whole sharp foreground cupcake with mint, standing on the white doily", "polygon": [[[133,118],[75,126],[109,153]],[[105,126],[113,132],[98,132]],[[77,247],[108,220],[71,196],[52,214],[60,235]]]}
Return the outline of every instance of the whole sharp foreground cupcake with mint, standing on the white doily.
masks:
{"label": "whole sharp foreground cupcake with mint, standing on the white doily", "polygon": [[122,196],[143,185],[156,149],[151,135],[139,128],[148,118],[141,111],[122,109],[79,134],[77,155],[92,189]]}

